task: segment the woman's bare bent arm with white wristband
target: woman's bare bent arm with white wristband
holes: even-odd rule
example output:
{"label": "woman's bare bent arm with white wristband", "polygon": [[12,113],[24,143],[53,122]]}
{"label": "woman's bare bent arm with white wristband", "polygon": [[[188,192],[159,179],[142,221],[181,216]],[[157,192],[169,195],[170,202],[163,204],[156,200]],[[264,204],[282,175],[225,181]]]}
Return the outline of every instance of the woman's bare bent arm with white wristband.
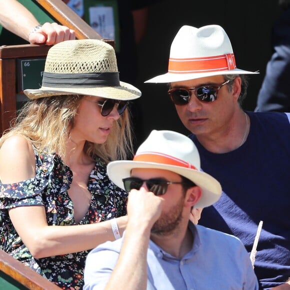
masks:
{"label": "woman's bare bent arm with white wristband", "polygon": [[[82,225],[47,225],[43,206],[21,206],[9,210],[11,221],[36,258],[88,250],[107,240],[114,240],[109,220]],[[127,216],[118,217],[119,229]]]}

